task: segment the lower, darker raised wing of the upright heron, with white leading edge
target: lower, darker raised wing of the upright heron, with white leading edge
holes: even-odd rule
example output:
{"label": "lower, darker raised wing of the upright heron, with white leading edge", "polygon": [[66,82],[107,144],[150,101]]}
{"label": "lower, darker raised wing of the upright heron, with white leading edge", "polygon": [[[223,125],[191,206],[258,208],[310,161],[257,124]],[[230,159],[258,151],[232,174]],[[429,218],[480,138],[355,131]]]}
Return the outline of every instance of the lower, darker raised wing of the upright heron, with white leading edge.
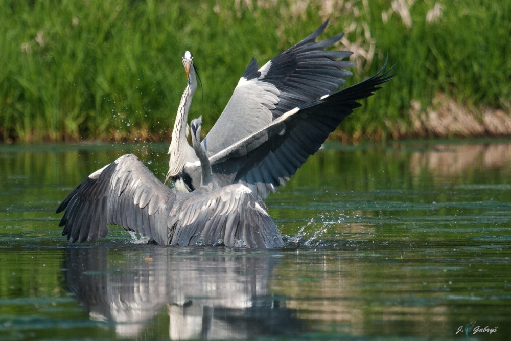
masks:
{"label": "lower, darker raised wing of the upright heron, with white leading edge", "polygon": [[[385,62],[386,65],[386,62]],[[221,184],[241,183],[265,198],[289,180],[340,122],[393,77],[383,72],[296,107],[263,129],[210,157]]]}

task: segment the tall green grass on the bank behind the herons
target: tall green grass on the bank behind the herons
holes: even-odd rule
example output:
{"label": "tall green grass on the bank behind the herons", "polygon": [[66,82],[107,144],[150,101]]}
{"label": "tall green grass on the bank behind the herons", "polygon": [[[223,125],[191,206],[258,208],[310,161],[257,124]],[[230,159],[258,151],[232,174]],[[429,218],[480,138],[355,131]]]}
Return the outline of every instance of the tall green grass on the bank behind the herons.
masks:
{"label": "tall green grass on the bank behind the herons", "polygon": [[204,85],[191,115],[204,113],[211,127],[252,55],[263,64],[327,17],[322,37],[346,32],[342,42],[355,52],[349,84],[387,55],[398,64],[398,76],[343,124],[349,137],[406,132],[410,100],[425,106],[438,92],[476,106],[509,104],[509,0],[257,3],[2,2],[0,136],[169,138],[185,50]]}

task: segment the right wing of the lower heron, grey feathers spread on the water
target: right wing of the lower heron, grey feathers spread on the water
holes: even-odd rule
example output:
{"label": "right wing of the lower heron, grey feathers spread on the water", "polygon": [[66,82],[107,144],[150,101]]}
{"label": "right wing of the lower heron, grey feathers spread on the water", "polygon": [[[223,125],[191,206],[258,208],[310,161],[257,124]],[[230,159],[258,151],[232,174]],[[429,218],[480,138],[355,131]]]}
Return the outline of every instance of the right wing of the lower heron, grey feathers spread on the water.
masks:
{"label": "right wing of the lower heron, grey feathers spread on the water", "polygon": [[208,192],[199,188],[171,211],[171,245],[283,247],[263,201],[234,184]]}

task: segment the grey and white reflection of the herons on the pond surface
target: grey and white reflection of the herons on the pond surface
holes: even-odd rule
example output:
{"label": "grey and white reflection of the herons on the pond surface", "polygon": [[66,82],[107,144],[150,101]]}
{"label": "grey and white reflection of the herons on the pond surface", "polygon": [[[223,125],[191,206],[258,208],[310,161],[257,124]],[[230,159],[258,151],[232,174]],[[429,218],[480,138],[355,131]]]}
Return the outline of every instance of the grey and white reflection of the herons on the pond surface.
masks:
{"label": "grey and white reflection of the herons on the pond surface", "polygon": [[[69,247],[65,289],[91,320],[118,337],[171,339],[289,335],[301,329],[295,311],[272,297],[275,253],[219,248]],[[155,335],[148,335],[155,333]]]}

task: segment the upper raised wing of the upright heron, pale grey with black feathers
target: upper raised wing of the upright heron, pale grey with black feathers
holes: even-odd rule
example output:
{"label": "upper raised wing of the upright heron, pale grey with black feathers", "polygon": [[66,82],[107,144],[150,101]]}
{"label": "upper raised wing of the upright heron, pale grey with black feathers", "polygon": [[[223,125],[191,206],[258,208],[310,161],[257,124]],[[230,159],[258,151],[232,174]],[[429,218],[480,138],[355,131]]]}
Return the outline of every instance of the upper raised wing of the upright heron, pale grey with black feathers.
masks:
{"label": "upper raised wing of the upright heron, pale grey with black feathers", "polygon": [[252,59],[217,122],[202,142],[208,154],[217,153],[271,123],[283,113],[310,100],[331,94],[350,77],[339,59],[349,51],[325,51],[342,34],[316,42],[328,20],[293,47],[258,70]]}

